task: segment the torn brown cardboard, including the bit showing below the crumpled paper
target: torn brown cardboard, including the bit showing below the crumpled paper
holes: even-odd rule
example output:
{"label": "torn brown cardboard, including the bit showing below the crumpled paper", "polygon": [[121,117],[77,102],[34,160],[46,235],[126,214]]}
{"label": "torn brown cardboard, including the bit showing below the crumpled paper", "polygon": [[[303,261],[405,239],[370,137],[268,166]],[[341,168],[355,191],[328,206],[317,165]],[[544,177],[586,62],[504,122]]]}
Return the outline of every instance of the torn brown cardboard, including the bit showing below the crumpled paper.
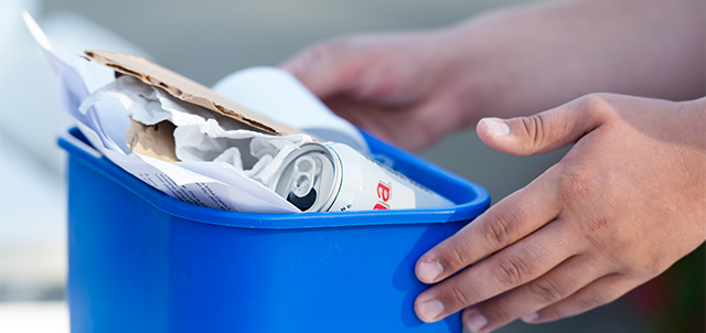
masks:
{"label": "torn brown cardboard, including the bit showing below the crumpled paper", "polygon": [[[141,56],[108,51],[85,51],[85,54],[84,57],[88,61],[108,66],[117,73],[133,76],[145,84],[161,88],[185,103],[233,118],[243,123],[245,128],[254,131],[276,136],[306,133],[247,109],[233,100],[222,97],[210,88],[153,64]],[[164,161],[179,161],[173,152],[173,137],[169,136],[173,131],[173,126],[171,128],[164,127],[164,129],[170,129],[171,131],[152,130],[148,126],[132,120],[130,129],[126,133],[128,147],[132,152]]]}

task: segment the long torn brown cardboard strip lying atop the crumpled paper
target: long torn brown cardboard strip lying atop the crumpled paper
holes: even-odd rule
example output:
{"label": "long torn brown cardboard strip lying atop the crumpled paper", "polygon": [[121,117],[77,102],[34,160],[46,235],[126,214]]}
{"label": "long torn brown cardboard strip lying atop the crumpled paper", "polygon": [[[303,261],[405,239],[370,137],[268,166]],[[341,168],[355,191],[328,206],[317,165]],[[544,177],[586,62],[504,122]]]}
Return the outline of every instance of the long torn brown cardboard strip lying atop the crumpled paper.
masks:
{"label": "long torn brown cardboard strip lying atop the crumpled paper", "polygon": [[[310,133],[279,123],[245,108],[192,79],[151,63],[145,57],[109,51],[85,51],[84,58],[110,67],[117,73],[133,76],[142,83],[161,88],[185,103],[233,118],[255,131],[275,136],[304,133],[319,141]],[[130,141],[128,140],[128,142]]]}

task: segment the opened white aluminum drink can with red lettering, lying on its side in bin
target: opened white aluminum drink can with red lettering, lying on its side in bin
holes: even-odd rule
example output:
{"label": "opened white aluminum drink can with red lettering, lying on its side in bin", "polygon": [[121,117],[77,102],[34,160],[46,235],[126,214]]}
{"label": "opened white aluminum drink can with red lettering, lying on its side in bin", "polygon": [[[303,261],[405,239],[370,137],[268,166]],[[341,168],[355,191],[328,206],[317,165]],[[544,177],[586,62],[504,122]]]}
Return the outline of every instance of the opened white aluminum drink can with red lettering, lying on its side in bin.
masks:
{"label": "opened white aluminum drink can with red lettering, lying on its side in bin", "polygon": [[306,143],[289,153],[269,189],[302,212],[451,206],[446,197],[342,143]]}

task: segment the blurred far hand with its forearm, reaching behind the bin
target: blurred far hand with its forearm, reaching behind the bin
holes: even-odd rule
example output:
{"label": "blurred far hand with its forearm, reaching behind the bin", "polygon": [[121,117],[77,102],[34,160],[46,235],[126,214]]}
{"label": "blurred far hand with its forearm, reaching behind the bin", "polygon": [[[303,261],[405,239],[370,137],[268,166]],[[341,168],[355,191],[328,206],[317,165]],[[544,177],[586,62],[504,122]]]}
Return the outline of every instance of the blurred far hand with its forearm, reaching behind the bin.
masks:
{"label": "blurred far hand with its forearm, reaching behind the bin", "polygon": [[547,2],[437,31],[338,39],[282,67],[343,118],[418,151],[482,117],[591,92],[702,96],[703,12],[700,0]]}

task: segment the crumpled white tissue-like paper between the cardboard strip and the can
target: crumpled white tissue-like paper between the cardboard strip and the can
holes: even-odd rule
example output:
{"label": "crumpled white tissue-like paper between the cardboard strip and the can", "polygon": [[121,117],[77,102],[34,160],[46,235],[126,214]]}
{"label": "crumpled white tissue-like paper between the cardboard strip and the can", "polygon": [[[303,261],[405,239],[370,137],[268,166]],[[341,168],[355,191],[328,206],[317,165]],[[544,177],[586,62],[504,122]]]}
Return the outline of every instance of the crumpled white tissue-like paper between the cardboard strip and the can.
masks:
{"label": "crumpled white tissue-like paper between the cardboard strip and the can", "polygon": [[269,136],[246,129],[234,119],[181,101],[138,78],[124,75],[97,89],[81,105],[85,114],[101,100],[118,98],[132,119],[151,126],[169,120],[176,158],[183,162],[224,162],[267,184],[285,157],[312,139],[307,135]]}

